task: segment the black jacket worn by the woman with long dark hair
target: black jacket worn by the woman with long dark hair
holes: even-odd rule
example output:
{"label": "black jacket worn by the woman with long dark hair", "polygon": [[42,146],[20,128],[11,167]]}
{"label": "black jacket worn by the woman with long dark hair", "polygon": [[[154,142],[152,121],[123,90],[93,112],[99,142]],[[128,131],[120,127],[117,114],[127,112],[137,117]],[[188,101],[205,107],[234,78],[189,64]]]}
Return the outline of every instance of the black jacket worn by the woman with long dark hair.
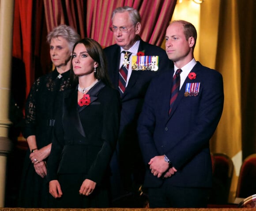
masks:
{"label": "black jacket worn by the woman with long dark hair", "polygon": [[88,94],[90,105],[80,107],[77,89],[64,92],[54,126],[48,181],[56,180],[57,174],[83,173],[98,184],[106,175],[118,137],[120,96],[102,81]]}

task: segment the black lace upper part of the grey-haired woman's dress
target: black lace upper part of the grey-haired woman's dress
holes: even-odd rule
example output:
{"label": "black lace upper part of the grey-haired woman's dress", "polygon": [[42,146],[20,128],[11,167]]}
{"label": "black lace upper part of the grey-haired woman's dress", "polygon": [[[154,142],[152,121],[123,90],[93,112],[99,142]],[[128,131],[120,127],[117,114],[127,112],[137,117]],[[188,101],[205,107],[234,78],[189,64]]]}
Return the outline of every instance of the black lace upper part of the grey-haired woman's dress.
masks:
{"label": "black lace upper part of the grey-haired woman's dress", "polygon": [[[70,87],[69,72],[58,78],[59,73],[55,69],[34,82],[26,100],[24,137],[36,135],[37,144],[42,146],[50,143],[51,128],[47,127],[45,122],[55,119],[56,111],[62,102],[60,92]],[[49,141],[40,143],[42,136]]]}

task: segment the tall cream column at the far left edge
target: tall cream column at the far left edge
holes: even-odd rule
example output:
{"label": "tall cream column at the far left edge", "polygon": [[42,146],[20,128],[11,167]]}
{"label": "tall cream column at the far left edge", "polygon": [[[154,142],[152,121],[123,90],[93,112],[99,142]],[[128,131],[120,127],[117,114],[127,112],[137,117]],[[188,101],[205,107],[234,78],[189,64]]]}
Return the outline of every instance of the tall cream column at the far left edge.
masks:
{"label": "tall cream column at the far left edge", "polygon": [[7,155],[11,151],[8,128],[14,0],[0,0],[0,207],[4,207]]}

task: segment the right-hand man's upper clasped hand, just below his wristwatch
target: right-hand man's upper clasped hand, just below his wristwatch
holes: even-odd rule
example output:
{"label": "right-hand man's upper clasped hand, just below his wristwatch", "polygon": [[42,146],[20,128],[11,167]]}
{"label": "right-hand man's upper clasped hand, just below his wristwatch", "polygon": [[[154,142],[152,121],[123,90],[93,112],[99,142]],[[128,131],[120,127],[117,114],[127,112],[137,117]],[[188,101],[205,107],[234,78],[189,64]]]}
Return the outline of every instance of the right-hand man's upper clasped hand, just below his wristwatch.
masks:
{"label": "right-hand man's upper clasped hand, just below his wristwatch", "polygon": [[164,155],[155,156],[148,164],[150,165],[151,173],[158,178],[169,168],[169,163],[165,162]]}

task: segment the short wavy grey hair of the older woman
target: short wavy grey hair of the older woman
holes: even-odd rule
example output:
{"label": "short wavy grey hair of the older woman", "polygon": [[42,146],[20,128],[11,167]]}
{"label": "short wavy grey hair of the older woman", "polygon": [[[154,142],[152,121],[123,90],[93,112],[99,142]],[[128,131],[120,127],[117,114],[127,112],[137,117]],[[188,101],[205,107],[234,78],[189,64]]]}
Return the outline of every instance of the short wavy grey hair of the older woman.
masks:
{"label": "short wavy grey hair of the older woman", "polygon": [[51,32],[48,33],[46,37],[47,42],[50,44],[51,40],[56,37],[63,37],[66,39],[71,51],[74,44],[81,39],[80,35],[72,27],[64,24],[56,26]]}

